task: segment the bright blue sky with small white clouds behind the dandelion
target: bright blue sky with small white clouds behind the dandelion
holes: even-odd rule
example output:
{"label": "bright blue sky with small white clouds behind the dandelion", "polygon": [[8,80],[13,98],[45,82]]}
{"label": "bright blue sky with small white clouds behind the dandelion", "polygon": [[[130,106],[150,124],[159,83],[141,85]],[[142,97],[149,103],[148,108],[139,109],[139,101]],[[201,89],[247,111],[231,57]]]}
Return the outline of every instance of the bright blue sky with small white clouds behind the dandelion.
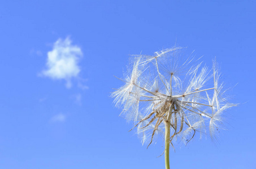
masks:
{"label": "bright blue sky with small white clouds behind the dandelion", "polygon": [[240,105],[219,144],[177,145],[171,168],[255,168],[255,6],[1,1],[0,168],[164,168],[163,141],[142,146],[109,96],[129,55],[175,43],[208,66],[216,56]]}

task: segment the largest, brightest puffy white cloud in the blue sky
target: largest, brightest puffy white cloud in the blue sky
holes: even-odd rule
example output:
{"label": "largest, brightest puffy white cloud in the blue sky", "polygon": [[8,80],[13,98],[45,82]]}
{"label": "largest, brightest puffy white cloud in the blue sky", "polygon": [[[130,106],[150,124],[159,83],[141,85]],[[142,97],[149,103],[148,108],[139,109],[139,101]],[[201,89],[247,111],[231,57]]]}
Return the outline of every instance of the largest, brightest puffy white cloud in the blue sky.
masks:
{"label": "largest, brightest puffy white cloud in the blue sky", "polygon": [[81,48],[71,44],[70,38],[58,39],[53,50],[47,53],[47,69],[42,75],[52,79],[66,80],[66,87],[72,86],[71,78],[78,77],[80,68],[78,62],[83,53]]}

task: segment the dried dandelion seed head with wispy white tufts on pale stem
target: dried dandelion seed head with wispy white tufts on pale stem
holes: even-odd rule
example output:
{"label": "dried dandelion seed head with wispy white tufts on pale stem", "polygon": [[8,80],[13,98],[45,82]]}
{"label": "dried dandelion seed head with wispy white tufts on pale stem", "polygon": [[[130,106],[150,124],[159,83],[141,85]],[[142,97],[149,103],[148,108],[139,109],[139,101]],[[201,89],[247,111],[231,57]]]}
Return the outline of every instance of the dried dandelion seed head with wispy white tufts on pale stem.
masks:
{"label": "dried dandelion seed head with wispy white tufts on pale stem", "polygon": [[149,141],[148,147],[157,135],[165,135],[166,169],[170,144],[178,140],[187,144],[196,133],[216,139],[218,130],[224,129],[224,111],[235,106],[224,96],[216,61],[208,69],[200,58],[184,59],[181,51],[173,47],[153,56],[133,55],[120,79],[124,86],[111,95],[115,105],[123,108],[120,115],[134,122],[142,144]]}

